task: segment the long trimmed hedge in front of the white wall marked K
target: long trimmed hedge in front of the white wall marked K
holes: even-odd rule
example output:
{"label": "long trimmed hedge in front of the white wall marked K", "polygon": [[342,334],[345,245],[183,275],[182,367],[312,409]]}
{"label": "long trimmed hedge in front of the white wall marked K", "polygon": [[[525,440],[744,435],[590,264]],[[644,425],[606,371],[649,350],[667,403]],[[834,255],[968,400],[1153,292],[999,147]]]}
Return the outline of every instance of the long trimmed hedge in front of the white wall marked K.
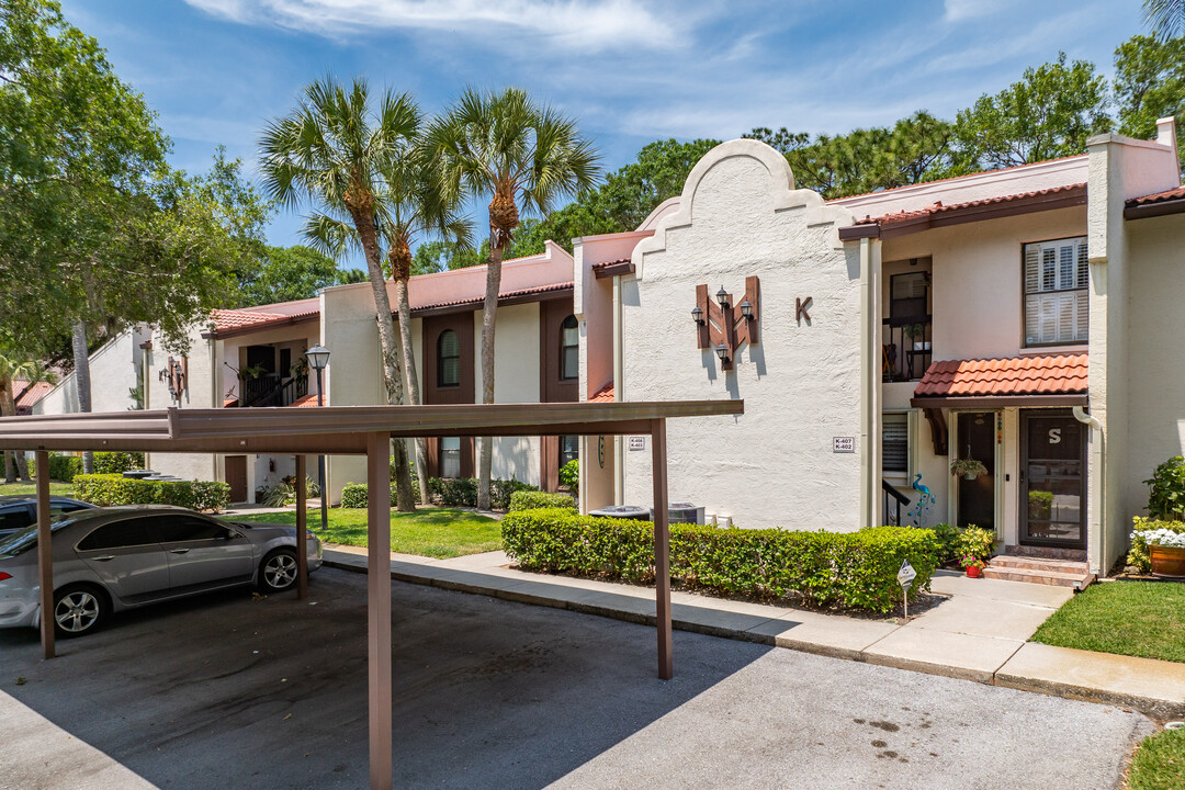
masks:
{"label": "long trimmed hedge in front of the white wall marked K", "polygon": [[[654,537],[647,521],[582,516],[565,509],[515,510],[502,519],[506,553],[525,569],[654,580]],[[671,525],[671,576],[688,587],[808,606],[888,612],[901,605],[897,571],[917,571],[910,590],[928,590],[941,547],[929,529],[871,527],[859,532],[719,529]]]}

